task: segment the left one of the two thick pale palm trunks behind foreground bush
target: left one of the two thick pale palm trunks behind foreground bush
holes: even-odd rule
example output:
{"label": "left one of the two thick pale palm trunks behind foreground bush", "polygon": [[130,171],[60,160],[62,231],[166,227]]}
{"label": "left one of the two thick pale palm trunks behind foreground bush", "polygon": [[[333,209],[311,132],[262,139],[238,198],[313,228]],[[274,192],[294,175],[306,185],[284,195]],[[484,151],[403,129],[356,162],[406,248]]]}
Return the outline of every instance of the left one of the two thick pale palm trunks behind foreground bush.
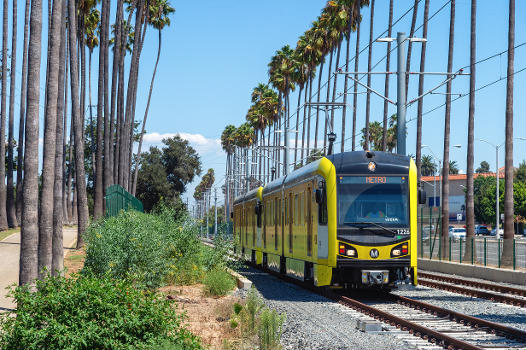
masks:
{"label": "left one of the two thick pale palm trunks behind foreground bush", "polygon": [[[25,125],[24,187],[20,229],[20,285],[38,277],[38,116],[42,45],[42,1],[31,1],[27,69],[27,118]],[[0,167],[1,168],[1,167]]]}

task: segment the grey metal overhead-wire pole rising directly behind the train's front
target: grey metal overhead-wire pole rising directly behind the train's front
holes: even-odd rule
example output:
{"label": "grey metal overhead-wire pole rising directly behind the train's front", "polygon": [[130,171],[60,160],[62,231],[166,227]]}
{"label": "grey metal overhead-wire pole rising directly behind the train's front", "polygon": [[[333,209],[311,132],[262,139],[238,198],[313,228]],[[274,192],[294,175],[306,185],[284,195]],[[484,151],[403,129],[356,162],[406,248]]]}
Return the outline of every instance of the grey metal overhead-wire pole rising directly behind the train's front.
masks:
{"label": "grey metal overhead-wire pole rising directly behind the train's front", "polygon": [[405,91],[405,41],[407,37],[405,33],[398,32],[396,42],[398,44],[398,94],[396,101],[396,118],[397,118],[397,135],[396,135],[396,153],[406,154],[406,91]]}

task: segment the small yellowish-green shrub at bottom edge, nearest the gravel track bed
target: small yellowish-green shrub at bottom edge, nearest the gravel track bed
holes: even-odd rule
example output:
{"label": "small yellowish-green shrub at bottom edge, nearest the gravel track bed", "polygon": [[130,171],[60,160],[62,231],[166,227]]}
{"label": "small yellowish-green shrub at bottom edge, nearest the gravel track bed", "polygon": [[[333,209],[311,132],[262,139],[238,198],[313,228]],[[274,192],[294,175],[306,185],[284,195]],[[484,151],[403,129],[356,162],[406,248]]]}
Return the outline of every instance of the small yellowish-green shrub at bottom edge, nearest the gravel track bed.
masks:
{"label": "small yellowish-green shrub at bottom edge, nearest the gravel track bed", "polygon": [[259,316],[258,339],[261,350],[277,350],[281,348],[280,339],[283,333],[285,314],[278,314],[276,310],[267,307]]}

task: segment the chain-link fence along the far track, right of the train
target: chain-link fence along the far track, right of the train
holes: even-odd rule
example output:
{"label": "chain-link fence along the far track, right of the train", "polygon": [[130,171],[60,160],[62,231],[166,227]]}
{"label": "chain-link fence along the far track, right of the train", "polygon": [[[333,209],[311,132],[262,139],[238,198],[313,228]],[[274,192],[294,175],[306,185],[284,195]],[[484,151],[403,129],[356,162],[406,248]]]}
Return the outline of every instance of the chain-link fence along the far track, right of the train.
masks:
{"label": "chain-link fence along the far track, right of the train", "polygon": [[440,208],[421,208],[418,217],[418,256],[493,267],[526,269],[526,239],[502,239],[495,236],[456,237],[448,227],[441,240]]}

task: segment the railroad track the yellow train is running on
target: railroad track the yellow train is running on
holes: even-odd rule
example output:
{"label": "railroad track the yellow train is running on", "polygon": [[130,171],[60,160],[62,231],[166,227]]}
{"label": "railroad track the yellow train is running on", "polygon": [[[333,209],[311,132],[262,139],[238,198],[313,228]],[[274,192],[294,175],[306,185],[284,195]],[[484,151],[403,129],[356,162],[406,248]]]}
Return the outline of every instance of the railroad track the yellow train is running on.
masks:
{"label": "railroad track the yellow train is running on", "polygon": [[373,298],[360,296],[359,293],[358,297],[341,294],[258,265],[247,265],[345,305],[355,318],[382,322],[382,332],[402,338],[416,349],[526,349],[526,331],[513,327],[387,292],[380,292]]}

